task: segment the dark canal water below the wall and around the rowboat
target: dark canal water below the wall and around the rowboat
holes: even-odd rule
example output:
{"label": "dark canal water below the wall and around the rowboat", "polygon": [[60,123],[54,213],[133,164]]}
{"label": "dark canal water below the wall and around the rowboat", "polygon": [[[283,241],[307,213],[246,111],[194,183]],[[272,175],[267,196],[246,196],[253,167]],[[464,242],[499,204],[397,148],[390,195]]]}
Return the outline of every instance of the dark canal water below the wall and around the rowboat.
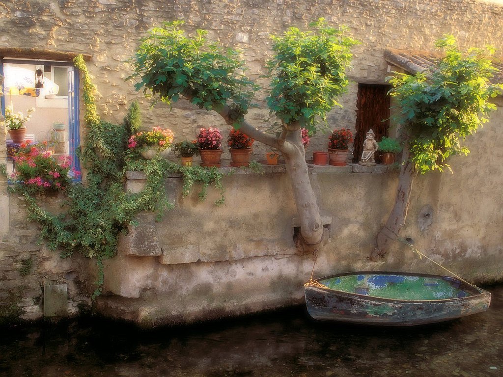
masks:
{"label": "dark canal water below the wall and around the rowboat", "polygon": [[503,376],[503,286],[487,312],[416,328],[311,320],[303,307],[150,331],[102,318],[0,332],[0,376]]}

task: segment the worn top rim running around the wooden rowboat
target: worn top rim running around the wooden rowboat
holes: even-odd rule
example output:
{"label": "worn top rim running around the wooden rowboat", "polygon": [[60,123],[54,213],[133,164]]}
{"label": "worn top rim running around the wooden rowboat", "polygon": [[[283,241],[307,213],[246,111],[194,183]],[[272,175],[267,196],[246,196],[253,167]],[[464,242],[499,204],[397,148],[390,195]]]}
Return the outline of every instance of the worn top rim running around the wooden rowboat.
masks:
{"label": "worn top rim running around the wooden rowboat", "polygon": [[[321,284],[321,282],[319,280],[324,280],[324,279],[331,279],[331,278],[334,278],[334,277],[340,277],[340,276],[348,276],[348,275],[366,275],[366,274],[373,274],[373,275],[407,275],[407,276],[420,276],[420,277],[440,277],[440,278],[444,278],[444,277],[448,277],[449,279],[453,279],[455,281],[458,281],[460,282],[460,284],[464,285],[464,286],[468,286],[470,288],[472,288],[473,290],[477,291],[478,293],[476,294],[473,294],[472,296],[465,296],[465,297],[453,297],[453,298],[450,298],[450,299],[438,299],[438,300],[403,300],[403,299],[388,299],[388,298],[384,298],[384,297],[378,297],[378,296],[370,296],[370,295],[362,295],[362,294],[359,294],[359,293],[353,293],[353,292],[345,292],[345,291],[339,291],[339,290],[334,290],[334,289],[331,289],[331,288],[328,288],[326,286],[323,286]],[[330,276],[323,276],[323,277],[320,277],[320,278],[317,278],[317,279],[313,279],[313,281],[316,281],[318,282],[318,284],[320,284],[321,286],[317,286],[317,285],[311,285],[310,282],[308,282],[305,286],[305,289],[307,288],[312,288],[312,289],[317,289],[317,290],[320,290],[320,291],[324,291],[324,292],[334,292],[334,293],[338,293],[338,294],[343,294],[343,295],[352,295],[352,296],[358,296],[362,299],[367,299],[367,300],[370,300],[370,299],[375,299],[375,300],[382,300],[384,302],[400,302],[400,303],[409,303],[409,304],[413,304],[413,303],[421,303],[421,304],[424,304],[424,303],[437,303],[437,302],[453,302],[453,301],[466,301],[467,299],[471,299],[471,298],[475,298],[477,296],[486,296],[486,295],[491,295],[491,293],[489,291],[486,291],[486,290],[483,290],[481,288],[478,288],[477,286],[474,286],[473,284],[470,284],[468,282],[464,282],[464,281],[461,281],[455,277],[452,277],[452,276],[447,276],[447,275],[434,275],[434,274],[428,274],[428,273],[415,273],[415,272],[392,272],[392,271],[355,271],[355,272],[344,272],[344,273],[339,273],[339,274],[335,274],[335,275],[330,275]],[[465,291],[467,292],[467,291]],[[469,292],[470,293],[470,292]]]}

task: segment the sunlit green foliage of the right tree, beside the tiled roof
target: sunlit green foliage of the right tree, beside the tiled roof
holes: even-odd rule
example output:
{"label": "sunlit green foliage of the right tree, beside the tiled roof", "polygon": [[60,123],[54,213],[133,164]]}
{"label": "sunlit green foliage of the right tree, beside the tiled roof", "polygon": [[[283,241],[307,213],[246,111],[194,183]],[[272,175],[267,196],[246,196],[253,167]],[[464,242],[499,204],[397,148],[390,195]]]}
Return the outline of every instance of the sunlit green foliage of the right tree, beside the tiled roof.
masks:
{"label": "sunlit green foliage of the right tree, beside the tiled roof", "polygon": [[400,109],[397,120],[406,131],[411,161],[421,173],[443,171],[449,168],[449,156],[469,153],[461,141],[487,122],[495,109],[489,99],[502,88],[489,81],[496,72],[490,58],[493,48],[463,53],[453,36],[445,36],[436,46],[445,50],[437,69],[389,78],[390,94]]}

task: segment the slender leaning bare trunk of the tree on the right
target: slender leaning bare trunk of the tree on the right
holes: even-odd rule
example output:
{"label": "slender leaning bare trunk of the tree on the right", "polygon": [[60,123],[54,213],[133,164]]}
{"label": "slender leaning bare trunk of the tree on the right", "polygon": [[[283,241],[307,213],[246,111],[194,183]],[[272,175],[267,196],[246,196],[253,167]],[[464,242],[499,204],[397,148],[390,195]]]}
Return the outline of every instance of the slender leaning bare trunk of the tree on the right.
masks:
{"label": "slender leaning bare trunk of the tree on the right", "polygon": [[388,221],[386,221],[384,227],[377,233],[376,248],[370,255],[370,259],[374,262],[386,255],[391,241],[397,240],[398,233],[403,228],[403,225],[405,225],[412,184],[417,176],[415,165],[410,161],[409,157],[408,145],[405,144],[402,152],[403,165],[400,168],[395,204],[388,217]]}

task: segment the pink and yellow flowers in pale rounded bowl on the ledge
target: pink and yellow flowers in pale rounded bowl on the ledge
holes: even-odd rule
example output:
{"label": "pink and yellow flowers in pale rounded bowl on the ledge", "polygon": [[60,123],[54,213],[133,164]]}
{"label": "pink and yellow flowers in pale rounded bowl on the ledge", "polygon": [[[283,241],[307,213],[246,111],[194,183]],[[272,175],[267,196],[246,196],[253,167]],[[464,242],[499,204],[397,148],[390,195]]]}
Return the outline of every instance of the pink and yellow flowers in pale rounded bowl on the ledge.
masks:
{"label": "pink and yellow flowers in pale rounded bowl on the ledge", "polygon": [[154,127],[152,131],[138,132],[128,141],[130,150],[139,151],[143,158],[167,157],[173,143],[173,132],[168,128]]}

